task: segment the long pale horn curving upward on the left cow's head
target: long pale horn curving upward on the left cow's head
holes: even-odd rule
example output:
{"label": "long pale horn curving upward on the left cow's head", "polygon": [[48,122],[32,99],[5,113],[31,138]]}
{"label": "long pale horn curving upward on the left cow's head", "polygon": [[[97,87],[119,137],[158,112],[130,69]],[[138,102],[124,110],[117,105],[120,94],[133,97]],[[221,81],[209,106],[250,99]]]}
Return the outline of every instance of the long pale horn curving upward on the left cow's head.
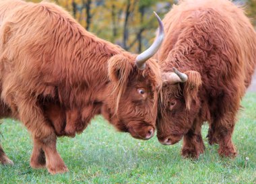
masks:
{"label": "long pale horn curving upward on the left cow's head", "polygon": [[141,54],[139,54],[136,57],[136,66],[137,68],[139,68],[139,70],[143,70],[146,67],[146,60],[148,60],[149,58],[151,58],[154,54],[156,54],[156,52],[158,51],[158,49],[160,48],[162,41],[164,40],[164,26],[162,24],[162,21],[160,19],[160,17],[158,16],[158,14],[156,14],[156,12],[154,11],[156,18],[158,19],[158,24],[159,24],[159,28],[158,28],[158,36],[156,37],[156,40],[154,41],[154,43],[150,46],[150,48],[148,48],[147,50],[145,50],[144,52],[142,52]]}

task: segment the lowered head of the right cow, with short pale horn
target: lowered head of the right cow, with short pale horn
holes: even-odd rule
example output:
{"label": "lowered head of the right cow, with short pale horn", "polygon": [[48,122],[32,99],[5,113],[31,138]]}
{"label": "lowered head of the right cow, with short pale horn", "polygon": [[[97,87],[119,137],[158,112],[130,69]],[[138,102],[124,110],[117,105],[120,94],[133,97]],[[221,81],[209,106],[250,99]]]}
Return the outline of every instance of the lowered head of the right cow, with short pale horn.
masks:
{"label": "lowered head of the right cow, with short pale horn", "polygon": [[158,102],[158,140],[164,145],[175,144],[183,138],[199,112],[197,97],[201,75],[197,71],[162,73],[163,86]]}

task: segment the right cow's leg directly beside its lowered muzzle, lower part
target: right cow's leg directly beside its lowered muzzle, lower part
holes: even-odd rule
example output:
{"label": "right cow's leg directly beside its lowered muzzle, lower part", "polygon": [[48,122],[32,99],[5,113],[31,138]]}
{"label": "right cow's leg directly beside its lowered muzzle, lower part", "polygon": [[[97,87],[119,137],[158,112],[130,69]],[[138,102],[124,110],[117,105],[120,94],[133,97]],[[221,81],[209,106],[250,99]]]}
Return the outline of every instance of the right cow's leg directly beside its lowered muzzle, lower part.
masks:
{"label": "right cow's leg directly beside its lowered muzzle, lower part", "polygon": [[185,158],[198,158],[203,154],[205,146],[201,136],[201,124],[195,124],[183,137],[183,148],[181,154]]}

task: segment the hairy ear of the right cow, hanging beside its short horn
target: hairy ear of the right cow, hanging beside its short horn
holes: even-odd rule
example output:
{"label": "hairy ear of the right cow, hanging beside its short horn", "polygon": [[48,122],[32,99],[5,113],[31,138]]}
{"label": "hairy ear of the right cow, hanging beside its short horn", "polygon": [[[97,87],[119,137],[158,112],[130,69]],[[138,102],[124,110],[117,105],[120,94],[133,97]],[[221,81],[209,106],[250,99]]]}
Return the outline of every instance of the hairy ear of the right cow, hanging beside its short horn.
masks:
{"label": "hairy ear of the right cow, hanging beside its short horn", "polygon": [[183,96],[185,97],[186,107],[190,109],[193,100],[197,100],[197,93],[201,87],[201,75],[197,71],[185,72],[188,79],[184,83]]}

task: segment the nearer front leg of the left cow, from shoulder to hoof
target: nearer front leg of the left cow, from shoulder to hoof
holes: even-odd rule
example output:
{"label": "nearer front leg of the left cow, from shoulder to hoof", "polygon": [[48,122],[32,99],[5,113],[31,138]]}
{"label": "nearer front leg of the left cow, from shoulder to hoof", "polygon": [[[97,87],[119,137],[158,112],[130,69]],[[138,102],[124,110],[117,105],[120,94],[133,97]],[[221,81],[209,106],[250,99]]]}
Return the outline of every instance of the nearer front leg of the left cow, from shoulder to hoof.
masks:
{"label": "nearer front leg of the left cow, from shoulder to hoof", "polygon": [[[26,128],[30,130],[34,138],[34,150],[32,152],[31,166],[38,167],[36,161],[40,160],[36,156],[41,156],[44,151],[46,158],[46,167],[51,174],[65,173],[67,167],[63,162],[61,156],[56,149],[57,136],[54,128],[47,122],[42,113],[42,109],[38,107],[36,100],[31,97],[20,97],[16,100],[18,102],[18,111],[20,120],[24,123]],[[40,160],[41,161],[41,160]]]}

